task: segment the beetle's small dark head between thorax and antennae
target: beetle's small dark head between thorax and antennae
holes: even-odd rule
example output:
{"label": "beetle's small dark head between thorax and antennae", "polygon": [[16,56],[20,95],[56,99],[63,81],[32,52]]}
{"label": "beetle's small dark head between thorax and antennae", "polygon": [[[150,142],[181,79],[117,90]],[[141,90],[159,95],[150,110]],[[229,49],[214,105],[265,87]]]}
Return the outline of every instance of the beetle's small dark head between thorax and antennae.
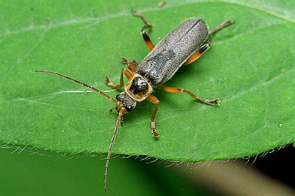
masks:
{"label": "beetle's small dark head between thorax and antennae", "polygon": [[118,94],[116,99],[118,100],[118,103],[116,105],[116,109],[118,112],[123,108],[125,108],[126,112],[130,112],[136,106],[136,100],[130,98],[130,96],[128,96],[125,92]]}

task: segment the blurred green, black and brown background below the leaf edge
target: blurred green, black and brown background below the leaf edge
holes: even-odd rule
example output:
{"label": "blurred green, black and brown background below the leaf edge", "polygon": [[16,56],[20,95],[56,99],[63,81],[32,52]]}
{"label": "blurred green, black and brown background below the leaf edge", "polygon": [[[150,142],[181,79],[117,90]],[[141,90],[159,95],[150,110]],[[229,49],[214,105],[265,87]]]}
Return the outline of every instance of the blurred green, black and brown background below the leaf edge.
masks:
{"label": "blurred green, black and brown background below the leaf edge", "polygon": [[290,145],[247,159],[179,165],[120,156],[110,161],[104,192],[106,155],[52,154],[2,146],[0,195],[294,196],[293,154]]}

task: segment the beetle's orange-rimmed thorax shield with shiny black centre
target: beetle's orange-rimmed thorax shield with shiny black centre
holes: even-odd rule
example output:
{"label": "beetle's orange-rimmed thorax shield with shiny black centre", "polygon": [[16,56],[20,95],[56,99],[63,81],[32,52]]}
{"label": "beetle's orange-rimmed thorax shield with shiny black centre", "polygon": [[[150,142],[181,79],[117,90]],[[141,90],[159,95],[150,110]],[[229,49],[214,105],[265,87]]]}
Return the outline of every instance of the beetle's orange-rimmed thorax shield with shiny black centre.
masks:
{"label": "beetle's orange-rimmed thorax shield with shiny black centre", "polygon": [[152,93],[152,88],[143,76],[134,73],[125,86],[125,92],[134,100],[143,101]]}

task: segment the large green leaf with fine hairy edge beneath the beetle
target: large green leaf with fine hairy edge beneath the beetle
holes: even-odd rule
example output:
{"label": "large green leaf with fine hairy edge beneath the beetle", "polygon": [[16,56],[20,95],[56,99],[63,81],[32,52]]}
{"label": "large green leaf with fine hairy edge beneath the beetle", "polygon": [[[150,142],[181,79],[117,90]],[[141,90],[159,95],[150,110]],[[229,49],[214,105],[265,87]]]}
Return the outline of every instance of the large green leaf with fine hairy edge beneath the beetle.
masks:
{"label": "large green leaf with fine hairy edge beneath the beetle", "polygon": [[118,117],[109,112],[114,104],[73,82],[34,71],[63,73],[115,98],[119,91],[104,84],[104,75],[118,83],[125,67],[120,56],[141,60],[148,54],[140,35],[143,22],[131,16],[131,8],[153,24],[154,43],[188,17],[204,19],[211,29],[229,19],[236,23],[216,33],[211,49],[166,84],[219,97],[221,105],[155,90],[161,102],[160,137],[150,134],[154,105],[138,103],[119,127],[114,153],[195,162],[294,143],[295,2],[169,0],[162,8],[158,2],[1,2],[0,143],[107,152]]}

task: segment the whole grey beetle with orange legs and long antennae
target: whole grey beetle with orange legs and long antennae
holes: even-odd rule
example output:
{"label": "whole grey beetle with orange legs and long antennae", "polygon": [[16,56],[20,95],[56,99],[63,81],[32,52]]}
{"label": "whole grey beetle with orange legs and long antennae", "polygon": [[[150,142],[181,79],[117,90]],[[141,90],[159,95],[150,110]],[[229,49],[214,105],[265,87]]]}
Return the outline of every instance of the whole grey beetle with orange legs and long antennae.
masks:
{"label": "whole grey beetle with orange legs and long antennae", "polygon": [[[118,132],[118,125],[123,123],[123,116],[132,111],[137,102],[148,100],[155,104],[155,109],[151,116],[151,133],[154,138],[159,136],[155,126],[155,116],[158,110],[160,101],[153,93],[152,87],[157,87],[170,93],[186,93],[192,98],[197,99],[200,102],[208,105],[218,105],[219,98],[208,100],[200,98],[193,93],[185,90],[184,88],[167,87],[163,84],[172,78],[177,70],[188,64],[193,63],[199,59],[209,48],[211,44],[212,34],[221,30],[222,28],[234,23],[234,20],[229,20],[221,23],[212,30],[208,30],[207,24],[200,18],[188,18],[182,21],[177,27],[175,27],[170,33],[168,33],[156,46],[151,42],[146,28],[152,27],[148,19],[141,13],[132,10],[134,16],[138,16],[143,19],[146,25],[141,30],[141,34],[149,49],[148,55],[140,63],[136,60],[129,60],[121,57],[123,63],[126,63],[129,72],[126,68],[121,70],[120,84],[116,85],[105,76],[105,82],[113,89],[121,89],[124,86],[123,75],[128,78],[125,84],[124,91],[117,95],[116,99],[109,97],[102,91],[96,88],[73,79],[69,76],[47,70],[36,70],[36,72],[52,73],[66,79],[72,80],[82,86],[90,88],[91,90],[101,94],[108,98],[110,101],[116,103],[116,107],[111,108],[110,111],[116,109],[118,111],[118,118],[114,130],[114,135],[111,140],[111,144],[106,158],[105,174],[104,174],[104,189],[106,190],[107,173],[109,167],[109,160],[111,157],[112,148],[115,138]],[[207,43],[206,40],[208,40]]]}

